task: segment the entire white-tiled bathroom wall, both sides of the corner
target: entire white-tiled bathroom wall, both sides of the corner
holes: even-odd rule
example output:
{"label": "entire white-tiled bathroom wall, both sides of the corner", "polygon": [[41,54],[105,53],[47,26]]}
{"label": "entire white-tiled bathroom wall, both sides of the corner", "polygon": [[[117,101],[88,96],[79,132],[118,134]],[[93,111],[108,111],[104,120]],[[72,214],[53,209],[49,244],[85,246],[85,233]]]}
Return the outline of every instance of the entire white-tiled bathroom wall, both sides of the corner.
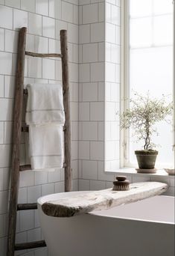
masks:
{"label": "entire white-tiled bathroom wall, both sides of the corner", "polygon": [[[0,0],[0,254],[6,255],[11,131],[19,28],[28,27],[27,50],[60,52],[60,29],[68,30],[73,190],[112,186],[119,168],[120,0]],[[61,82],[61,61],[25,61],[27,83]],[[25,156],[22,138],[22,162]],[[104,171],[105,170],[105,171]],[[110,172],[112,171],[112,172]],[[122,173],[121,173],[122,175]],[[160,180],[174,195],[174,177],[127,175],[130,182]],[[64,172],[20,174],[19,202],[64,191]],[[37,210],[18,213],[17,242],[42,239]],[[23,256],[48,256],[47,249]]]}

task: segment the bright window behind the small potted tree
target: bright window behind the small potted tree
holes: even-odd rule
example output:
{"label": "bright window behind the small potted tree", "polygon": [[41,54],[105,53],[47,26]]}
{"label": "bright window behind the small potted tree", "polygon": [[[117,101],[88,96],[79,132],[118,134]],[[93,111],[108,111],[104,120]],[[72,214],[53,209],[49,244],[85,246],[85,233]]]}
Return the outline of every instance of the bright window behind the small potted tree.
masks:
{"label": "bright window behind the small potted tree", "polygon": [[[121,110],[129,106],[128,99],[134,91],[139,94],[162,97],[170,95],[174,100],[173,67],[173,4],[172,0],[124,0],[123,38],[124,49],[121,69]],[[121,42],[122,44],[122,42]],[[159,135],[153,137],[159,150],[157,165],[174,165],[174,131],[170,124],[157,124]],[[121,165],[136,166],[134,150],[140,149],[141,141],[136,143],[132,129],[121,134]]]}

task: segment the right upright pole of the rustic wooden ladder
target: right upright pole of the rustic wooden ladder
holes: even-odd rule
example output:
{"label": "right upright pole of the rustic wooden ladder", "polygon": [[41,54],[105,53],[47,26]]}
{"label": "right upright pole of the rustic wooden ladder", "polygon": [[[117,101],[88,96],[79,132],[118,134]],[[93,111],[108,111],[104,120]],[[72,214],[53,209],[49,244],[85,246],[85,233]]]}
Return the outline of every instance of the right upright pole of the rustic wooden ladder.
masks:
{"label": "right upright pole of the rustic wooden ladder", "polygon": [[69,67],[68,67],[68,46],[67,31],[60,31],[60,44],[62,54],[62,77],[63,77],[63,103],[66,115],[64,130],[64,155],[65,155],[65,192],[71,191],[71,118],[70,118],[70,96],[69,96]]}

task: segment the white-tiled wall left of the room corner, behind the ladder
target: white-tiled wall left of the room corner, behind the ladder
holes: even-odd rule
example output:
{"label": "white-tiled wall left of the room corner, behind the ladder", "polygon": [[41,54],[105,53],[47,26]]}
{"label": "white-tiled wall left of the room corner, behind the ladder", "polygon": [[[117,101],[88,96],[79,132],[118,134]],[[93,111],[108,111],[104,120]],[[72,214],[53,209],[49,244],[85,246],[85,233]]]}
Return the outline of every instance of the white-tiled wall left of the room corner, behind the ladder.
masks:
{"label": "white-tiled wall left of the room corner, behind the ladder", "polygon": [[[6,255],[7,204],[13,124],[14,79],[19,28],[28,28],[27,50],[60,52],[60,29],[68,30],[71,84],[71,127],[73,189],[78,189],[78,0],[0,1],[0,255]],[[55,83],[62,80],[61,61],[56,58],[25,58],[27,83]],[[22,138],[21,159],[25,162]],[[20,173],[19,203],[34,203],[41,195],[64,190],[64,173],[55,171]],[[41,240],[37,211],[18,213],[16,242]],[[45,256],[46,249],[22,251],[18,255]]]}

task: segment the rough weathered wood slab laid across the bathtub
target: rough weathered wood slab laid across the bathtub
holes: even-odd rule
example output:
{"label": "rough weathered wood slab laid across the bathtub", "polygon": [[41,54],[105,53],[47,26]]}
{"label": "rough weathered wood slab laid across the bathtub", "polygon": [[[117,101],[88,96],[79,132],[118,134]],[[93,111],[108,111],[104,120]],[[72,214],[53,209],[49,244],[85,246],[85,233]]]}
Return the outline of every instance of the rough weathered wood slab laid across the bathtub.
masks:
{"label": "rough weathered wood slab laid across the bathtub", "polygon": [[161,195],[167,189],[168,185],[165,183],[142,182],[131,183],[128,191],[104,189],[82,192],[80,195],[71,195],[70,192],[69,197],[60,198],[57,201],[47,201],[42,204],[42,211],[48,216],[71,217],[89,213],[92,210],[104,210]]}

